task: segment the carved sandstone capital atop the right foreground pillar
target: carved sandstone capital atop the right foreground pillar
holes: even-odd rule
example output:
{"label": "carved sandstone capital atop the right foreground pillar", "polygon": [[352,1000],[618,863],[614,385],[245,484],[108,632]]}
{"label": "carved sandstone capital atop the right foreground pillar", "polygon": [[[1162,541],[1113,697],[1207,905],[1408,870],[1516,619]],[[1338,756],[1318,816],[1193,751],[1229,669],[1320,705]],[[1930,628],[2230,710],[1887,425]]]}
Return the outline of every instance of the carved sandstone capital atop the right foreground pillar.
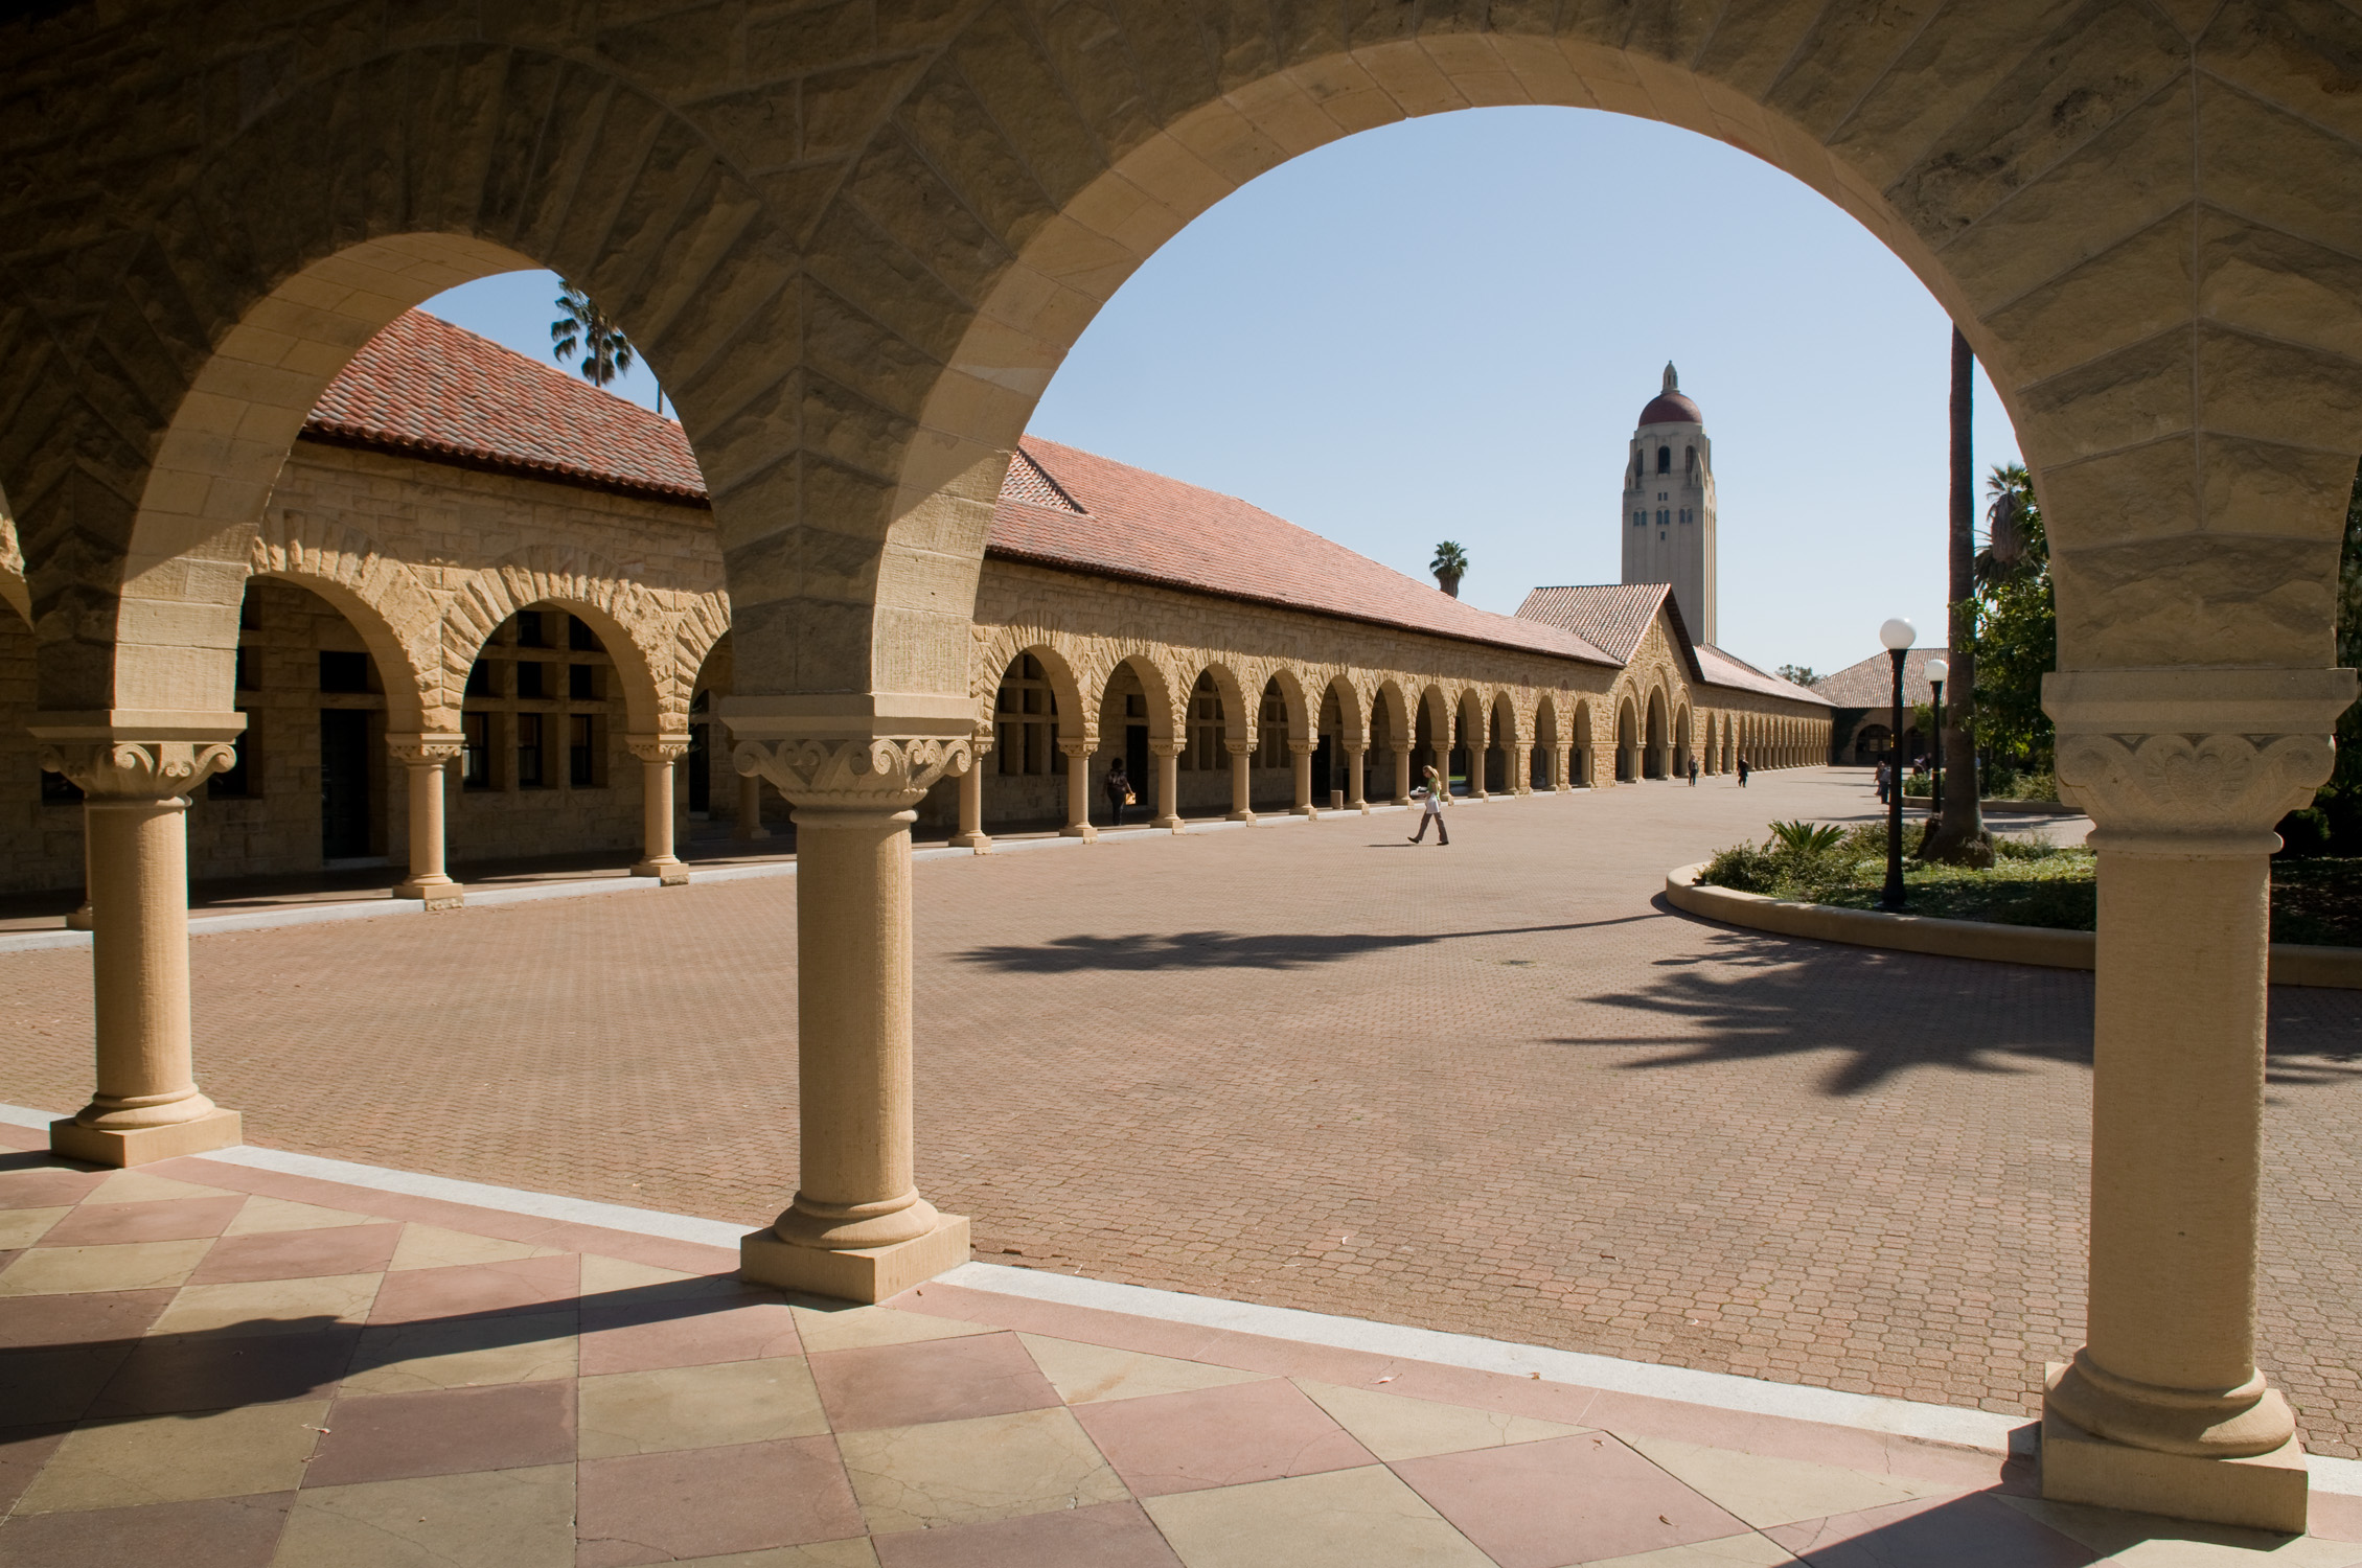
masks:
{"label": "carved sandstone capital atop the right foreground pillar", "polygon": [[2142,668],[2043,678],[2057,779],[2093,848],[2268,855],[2336,765],[2353,671]]}

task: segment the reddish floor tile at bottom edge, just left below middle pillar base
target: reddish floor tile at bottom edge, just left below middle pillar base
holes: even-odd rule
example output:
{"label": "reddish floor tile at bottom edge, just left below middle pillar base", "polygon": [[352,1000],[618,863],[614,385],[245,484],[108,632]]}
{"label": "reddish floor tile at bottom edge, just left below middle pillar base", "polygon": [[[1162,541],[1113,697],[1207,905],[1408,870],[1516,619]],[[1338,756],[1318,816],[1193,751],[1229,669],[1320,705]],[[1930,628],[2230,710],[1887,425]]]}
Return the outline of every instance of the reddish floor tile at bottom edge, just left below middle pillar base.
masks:
{"label": "reddish floor tile at bottom edge, just left below middle pillar base", "polygon": [[831,1438],[583,1459],[579,1568],[628,1568],[860,1535]]}

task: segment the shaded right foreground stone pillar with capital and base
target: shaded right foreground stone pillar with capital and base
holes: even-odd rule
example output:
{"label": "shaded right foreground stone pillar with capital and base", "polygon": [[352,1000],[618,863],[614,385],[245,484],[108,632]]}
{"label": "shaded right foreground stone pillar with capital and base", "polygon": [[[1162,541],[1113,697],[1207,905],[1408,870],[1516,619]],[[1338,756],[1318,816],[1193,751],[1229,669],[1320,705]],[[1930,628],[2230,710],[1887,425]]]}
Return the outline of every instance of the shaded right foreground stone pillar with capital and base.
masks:
{"label": "shaded right foreground stone pillar with capital and base", "polygon": [[2100,857],[2088,1341],[2050,1370],[2043,1497],[2305,1528],[2256,1370],[2272,824],[2334,763],[2353,671],[2043,680]]}

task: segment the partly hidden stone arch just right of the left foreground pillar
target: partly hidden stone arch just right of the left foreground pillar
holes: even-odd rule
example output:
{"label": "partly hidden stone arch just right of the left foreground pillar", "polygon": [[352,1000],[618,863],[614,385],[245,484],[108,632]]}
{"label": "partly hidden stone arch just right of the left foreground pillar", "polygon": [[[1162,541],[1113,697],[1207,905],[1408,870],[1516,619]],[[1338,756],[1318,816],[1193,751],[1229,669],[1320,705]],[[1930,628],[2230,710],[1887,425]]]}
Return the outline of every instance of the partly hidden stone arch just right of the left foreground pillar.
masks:
{"label": "partly hidden stone arch just right of the left foreground pillar", "polygon": [[317,593],[361,633],[385,680],[390,732],[458,725],[449,720],[456,704],[444,704],[442,609],[409,564],[359,529],[295,512],[265,512],[246,564],[250,576]]}

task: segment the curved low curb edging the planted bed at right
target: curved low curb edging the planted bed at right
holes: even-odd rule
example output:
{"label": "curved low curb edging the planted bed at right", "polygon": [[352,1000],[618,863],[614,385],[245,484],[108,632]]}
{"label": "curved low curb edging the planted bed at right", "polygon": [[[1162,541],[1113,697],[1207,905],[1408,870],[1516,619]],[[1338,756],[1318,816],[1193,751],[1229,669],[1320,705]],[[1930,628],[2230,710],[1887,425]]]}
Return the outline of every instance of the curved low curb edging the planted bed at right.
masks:
{"label": "curved low curb edging the planted bed at right", "polygon": [[[1838,909],[1793,897],[1738,893],[1736,888],[1705,888],[1698,886],[1703,869],[1705,862],[1701,860],[1694,867],[1665,871],[1665,902],[1686,914],[1722,921],[1724,926],[1746,926],[1783,937],[1812,937],[1816,942],[1847,942],[1852,947],[1923,952],[1944,959],[2041,963],[2043,968],[2090,968],[2100,949],[2100,937],[2088,930]],[[2362,989],[2362,947],[2272,942],[2272,985]]]}

